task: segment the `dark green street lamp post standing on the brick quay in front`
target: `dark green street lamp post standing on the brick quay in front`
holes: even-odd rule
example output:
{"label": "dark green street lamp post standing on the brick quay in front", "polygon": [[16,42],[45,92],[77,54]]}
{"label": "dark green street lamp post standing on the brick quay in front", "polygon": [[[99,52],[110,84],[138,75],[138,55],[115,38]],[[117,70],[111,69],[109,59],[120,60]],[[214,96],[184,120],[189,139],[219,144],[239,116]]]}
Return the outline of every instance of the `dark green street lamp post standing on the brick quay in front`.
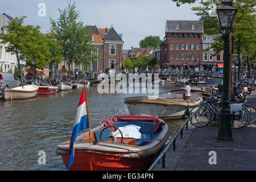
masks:
{"label": "dark green street lamp post standing on the brick quay in front", "polygon": [[219,140],[233,140],[232,129],[231,129],[231,117],[230,105],[228,98],[228,77],[230,74],[229,65],[229,39],[230,32],[232,31],[232,24],[234,16],[236,15],[237,9],[230,6],[229,1],[223,1],[223,6],[218,7],[217,19],[220,24],[220,32],[223,35],[224,40],[224,65],[223,65],[223,96],[221,102],[220,111],[220,126],[218,128],[218,139]]}

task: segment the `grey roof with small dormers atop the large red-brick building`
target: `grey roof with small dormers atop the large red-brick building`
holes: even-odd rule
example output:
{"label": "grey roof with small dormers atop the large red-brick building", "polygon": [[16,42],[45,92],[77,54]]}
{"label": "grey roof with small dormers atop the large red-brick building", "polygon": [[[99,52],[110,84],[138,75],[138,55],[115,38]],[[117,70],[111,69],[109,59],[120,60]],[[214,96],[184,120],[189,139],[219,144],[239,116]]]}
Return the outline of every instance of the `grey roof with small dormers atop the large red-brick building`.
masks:
{"label": "grey roof with small dormers atop the large red-brick building", "polygon": [[200,20],[167,20],[166,33],[203,33],[203,22]]}

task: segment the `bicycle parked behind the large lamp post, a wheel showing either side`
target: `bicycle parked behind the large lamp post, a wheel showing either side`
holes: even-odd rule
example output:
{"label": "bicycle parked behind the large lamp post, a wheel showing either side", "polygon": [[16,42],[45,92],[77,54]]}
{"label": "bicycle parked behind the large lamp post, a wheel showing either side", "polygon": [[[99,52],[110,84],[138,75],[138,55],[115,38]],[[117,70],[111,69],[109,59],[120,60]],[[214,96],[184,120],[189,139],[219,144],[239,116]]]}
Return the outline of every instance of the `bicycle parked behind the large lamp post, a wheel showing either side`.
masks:
{"label": "bicycle parked behind the large lamp post, a wheel showing either side", "polygon": [[[220,96],[217,96],[218,102],[216,104],[214,104],[214,97],[216,97],[216,94],[214,94],[212,90],[210,92],[210,97],[205,104],[197,106],[191,110],[191,113],[189,113],[189,120],[191,121],[192,125],[196,127],[204,127],[209,125],[214,118],[220,122],[220,110],[217,108],[218,104],[220,104]],[[250,111],[243,104],[231,104],[230,106],[232,106],[230,109],[230,113],[232,113],[232,128],[240,129],[242,127],[246,127],[250,123]],[[236,107],[239,107],[238,110],[236,110]],[[194,112],[196,113],[192,115]]]}

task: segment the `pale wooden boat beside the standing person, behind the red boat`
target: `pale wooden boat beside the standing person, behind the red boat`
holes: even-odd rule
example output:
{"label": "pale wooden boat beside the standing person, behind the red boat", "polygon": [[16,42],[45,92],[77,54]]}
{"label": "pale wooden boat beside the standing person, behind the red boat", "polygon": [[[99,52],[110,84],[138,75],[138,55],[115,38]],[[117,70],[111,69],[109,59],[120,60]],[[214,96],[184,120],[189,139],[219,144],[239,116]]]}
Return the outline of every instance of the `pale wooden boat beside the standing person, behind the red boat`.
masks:
{"label": "pale wooden boat beside the standing person, behind the red boat", "polygon": [[185,90],[160,93],[158,96],[127,97],[130,114],[148,114],[159,118],[176,119],[187,116],[188,108],[193,108],[203,102],[203,96],[191,92],[190,100],[185,100]]}

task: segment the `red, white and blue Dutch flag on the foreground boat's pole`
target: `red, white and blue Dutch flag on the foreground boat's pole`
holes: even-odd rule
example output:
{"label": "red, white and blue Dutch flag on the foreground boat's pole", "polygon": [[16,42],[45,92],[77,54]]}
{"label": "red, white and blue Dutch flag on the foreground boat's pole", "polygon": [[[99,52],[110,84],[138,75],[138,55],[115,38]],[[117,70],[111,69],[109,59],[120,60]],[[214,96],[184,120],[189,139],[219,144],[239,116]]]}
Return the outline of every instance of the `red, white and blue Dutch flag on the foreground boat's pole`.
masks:
{"label": "red, white and blue Dutch flag on the foreground boat's pole", "polygon": [[67,169],[73,164],[74,162],[74,155],[75,155],[75,147],[74,144],[76,142],[77,133],[79,131],[88,129],[89,122],[88,122],[88,115],[87,115],[87,108],[86,108],[86,102],[85,102],[85,92],[84,89],[82,90],[79,106],[76,111],[76,119],[75,124],[73,127],[73,132],[71,135],[71,140],[69,144],[69,160],[68,160],[68,166]]}

